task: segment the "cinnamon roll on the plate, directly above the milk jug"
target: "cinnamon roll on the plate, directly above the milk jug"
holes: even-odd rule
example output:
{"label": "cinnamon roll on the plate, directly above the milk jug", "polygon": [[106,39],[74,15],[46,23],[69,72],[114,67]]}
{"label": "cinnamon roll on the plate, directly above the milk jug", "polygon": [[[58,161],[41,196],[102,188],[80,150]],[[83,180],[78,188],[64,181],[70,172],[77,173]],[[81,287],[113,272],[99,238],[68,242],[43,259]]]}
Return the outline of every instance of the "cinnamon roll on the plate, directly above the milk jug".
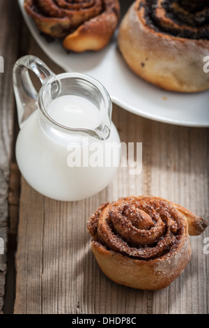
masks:
{"label": "cinnamon roll on the plate, directly above the milk jug", "polygon": [[40,31],[74,52],[102,49],[120,17],[118,0],[24,0],[24,8]]}

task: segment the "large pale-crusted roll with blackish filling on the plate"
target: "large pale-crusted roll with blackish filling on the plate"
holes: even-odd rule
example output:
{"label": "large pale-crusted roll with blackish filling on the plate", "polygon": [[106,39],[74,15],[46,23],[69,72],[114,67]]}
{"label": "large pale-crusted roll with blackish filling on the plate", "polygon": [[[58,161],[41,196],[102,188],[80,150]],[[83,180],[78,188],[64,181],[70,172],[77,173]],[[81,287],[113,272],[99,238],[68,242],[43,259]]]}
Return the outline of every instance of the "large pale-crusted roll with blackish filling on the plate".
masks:
{"label": "large pale-crusted roll with blackish filling on the plate", "polygon": [[137,0],[121,22],[118,46],[127,65],[162,89],[209,89],[203,59],[209,55],[206,0]]}

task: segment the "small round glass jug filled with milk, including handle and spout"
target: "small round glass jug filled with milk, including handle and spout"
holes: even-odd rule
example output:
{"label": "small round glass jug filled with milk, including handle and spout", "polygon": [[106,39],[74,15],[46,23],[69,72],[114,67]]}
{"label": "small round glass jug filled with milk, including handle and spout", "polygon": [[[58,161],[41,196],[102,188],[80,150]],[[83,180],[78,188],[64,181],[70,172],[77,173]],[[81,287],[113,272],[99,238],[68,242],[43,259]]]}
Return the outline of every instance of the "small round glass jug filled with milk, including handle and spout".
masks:
{"label": "small round glass jug filled with milk, including handle and spout", "polygon": [[[29,70],[42,83],[38,93]],[[55,75],[34,56],[16,62],[13,84],[20,126],[15,152],[24,179],[56,200],[102,191],[121,160],[107,90],[84,74]]]}

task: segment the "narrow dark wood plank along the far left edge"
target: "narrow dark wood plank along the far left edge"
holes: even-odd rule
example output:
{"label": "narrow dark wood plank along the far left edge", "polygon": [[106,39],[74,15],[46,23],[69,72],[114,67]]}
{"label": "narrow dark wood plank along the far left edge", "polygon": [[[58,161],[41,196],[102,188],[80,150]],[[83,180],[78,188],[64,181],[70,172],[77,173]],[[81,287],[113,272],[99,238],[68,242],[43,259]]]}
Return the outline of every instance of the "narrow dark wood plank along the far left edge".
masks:
{"label": "narrow dark wood plank along the far left edge", "polygon": [[[11,10],[13,8],[13,10]],[[4,255],[0,255],[0,312],[3,308],[6,277],[8,234],[8,183],[13,142],[13,65],[17,59],[20,37],[20,13],[17,1],[2,1],[0,11],[0,55],[4,73],[0,73],[0,237],[4,240]]]}

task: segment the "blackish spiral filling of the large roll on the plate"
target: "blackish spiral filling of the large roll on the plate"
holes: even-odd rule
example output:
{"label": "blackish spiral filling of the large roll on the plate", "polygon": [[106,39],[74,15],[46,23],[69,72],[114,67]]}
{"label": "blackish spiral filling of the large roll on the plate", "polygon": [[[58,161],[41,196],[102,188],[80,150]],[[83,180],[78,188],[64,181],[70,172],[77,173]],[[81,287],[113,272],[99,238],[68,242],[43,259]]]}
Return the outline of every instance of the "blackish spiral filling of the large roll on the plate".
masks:
{"label": "blackish spiral filling of the large roll on the plate", "polygon": [[209,3],[206,0],[139,0],[135,8],[157,32],[180,38],[209,39]]}

